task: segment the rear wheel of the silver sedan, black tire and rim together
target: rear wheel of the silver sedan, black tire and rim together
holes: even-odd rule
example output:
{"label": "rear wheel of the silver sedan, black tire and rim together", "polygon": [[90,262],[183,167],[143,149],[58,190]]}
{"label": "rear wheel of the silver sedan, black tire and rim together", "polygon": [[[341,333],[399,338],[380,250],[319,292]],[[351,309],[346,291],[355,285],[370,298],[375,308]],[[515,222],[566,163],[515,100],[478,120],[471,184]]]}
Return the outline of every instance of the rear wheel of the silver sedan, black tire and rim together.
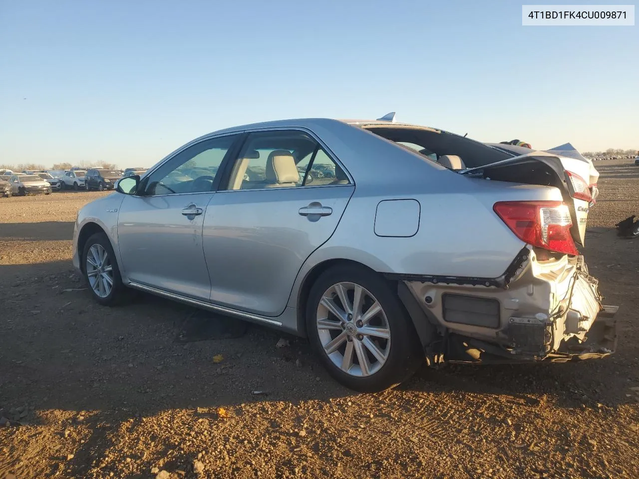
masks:
{"label": "rear wheel of the silver sedan, black tire and rim together", "polygon": [[[346,321],[340,321],[322,301],[332,296],[333,299],[328,301],[337,306],[337,310],[344,311],[336,289],[336,285],[340,284],[350,305],[353,304],[355,289],[362,288],[362,303],[358,308],[359,314],[355,314],[356,319],[347,316],[344,318]],[[366,313],[373,310],[375,300],[381,311],[367,319],[366,324],[357,321],[358,316],[364,319]],[[311,346],[328,373],[339,383],[358,392],[393,388],[411,377],[424,363],[424,352],[417,333],[397,293],[381,275],[366,268],[336,266],[322,273],[309,293],[306,326]],[[374,334],[366,334],[366,331]],[[382,338],[383,334],[388,338]],[[337,344],[339,347],[335,347]],[[325,349],[328,345],[334,351],[328,353]],[[376,354],[372,353],[373,349],[376,349]],[[362,354],[366,363],[364,367],[360,365]],[[350,361],[344,360],[345,356]],[[378,358],[382,358],[383,362]]]}

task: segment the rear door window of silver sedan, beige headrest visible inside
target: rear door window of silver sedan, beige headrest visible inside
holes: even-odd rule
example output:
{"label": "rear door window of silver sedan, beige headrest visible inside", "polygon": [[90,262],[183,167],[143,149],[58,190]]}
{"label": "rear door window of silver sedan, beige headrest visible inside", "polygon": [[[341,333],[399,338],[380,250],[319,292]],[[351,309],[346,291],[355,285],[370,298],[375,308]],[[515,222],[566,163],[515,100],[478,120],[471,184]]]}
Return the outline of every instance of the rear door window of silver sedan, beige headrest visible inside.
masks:
{"label": "rear door window of silver sedan, beige headrest visible inside", "polygon": [[[323,183],[309,181],[307,172],[319,153],[323,162],[335,171],[335,163],[307,133],[298,130],[276,130],[250,133],[233,165],[227,190],[251,190],[328,184],[335,174]],[[304,178],[307,181],[304,182]],[[348,181],[346,181],[348,183]]]}

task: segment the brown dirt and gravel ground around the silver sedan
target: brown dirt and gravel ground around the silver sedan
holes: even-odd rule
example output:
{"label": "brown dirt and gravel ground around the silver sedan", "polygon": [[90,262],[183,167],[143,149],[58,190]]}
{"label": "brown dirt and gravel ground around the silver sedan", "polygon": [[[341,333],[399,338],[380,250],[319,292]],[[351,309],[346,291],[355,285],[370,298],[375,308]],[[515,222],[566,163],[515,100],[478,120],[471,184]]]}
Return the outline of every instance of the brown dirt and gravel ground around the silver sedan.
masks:
{"label": "brown dirt and gravel ground around the silver sedan", "polygon": [[615,355],[424,367],[378,394],[336,384],[305,340],[181,344],[189,307],[91,301],[73,222],[108,193],[0,199],[0,479],[639,477],[639,240],[613,231],[639,215],[632,162],[596,163],[585,248],[620,307]]}

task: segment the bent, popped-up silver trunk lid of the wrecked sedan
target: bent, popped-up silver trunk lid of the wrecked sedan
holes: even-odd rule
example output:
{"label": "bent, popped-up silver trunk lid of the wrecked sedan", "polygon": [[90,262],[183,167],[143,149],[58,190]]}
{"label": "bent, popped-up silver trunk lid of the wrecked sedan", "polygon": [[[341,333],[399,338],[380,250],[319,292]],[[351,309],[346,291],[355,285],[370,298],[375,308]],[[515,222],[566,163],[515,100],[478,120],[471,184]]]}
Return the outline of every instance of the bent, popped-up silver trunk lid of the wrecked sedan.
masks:
{"label": "bent, popped-up silver trunk lid of the wrecked sedan", "polygon": [[576,158],[553,155],[544,151],[533,151],[527,155],[514,156],[481,167],[460,171],[475,178],[510,181],[526,185],[555,186],[558,188],[571,212],[573,226],[571,236],[580,245],[585,245],[586,222],[590,202],[571,196],[571,185],[567,171],[580,176],[589,185],[590,164]]}

